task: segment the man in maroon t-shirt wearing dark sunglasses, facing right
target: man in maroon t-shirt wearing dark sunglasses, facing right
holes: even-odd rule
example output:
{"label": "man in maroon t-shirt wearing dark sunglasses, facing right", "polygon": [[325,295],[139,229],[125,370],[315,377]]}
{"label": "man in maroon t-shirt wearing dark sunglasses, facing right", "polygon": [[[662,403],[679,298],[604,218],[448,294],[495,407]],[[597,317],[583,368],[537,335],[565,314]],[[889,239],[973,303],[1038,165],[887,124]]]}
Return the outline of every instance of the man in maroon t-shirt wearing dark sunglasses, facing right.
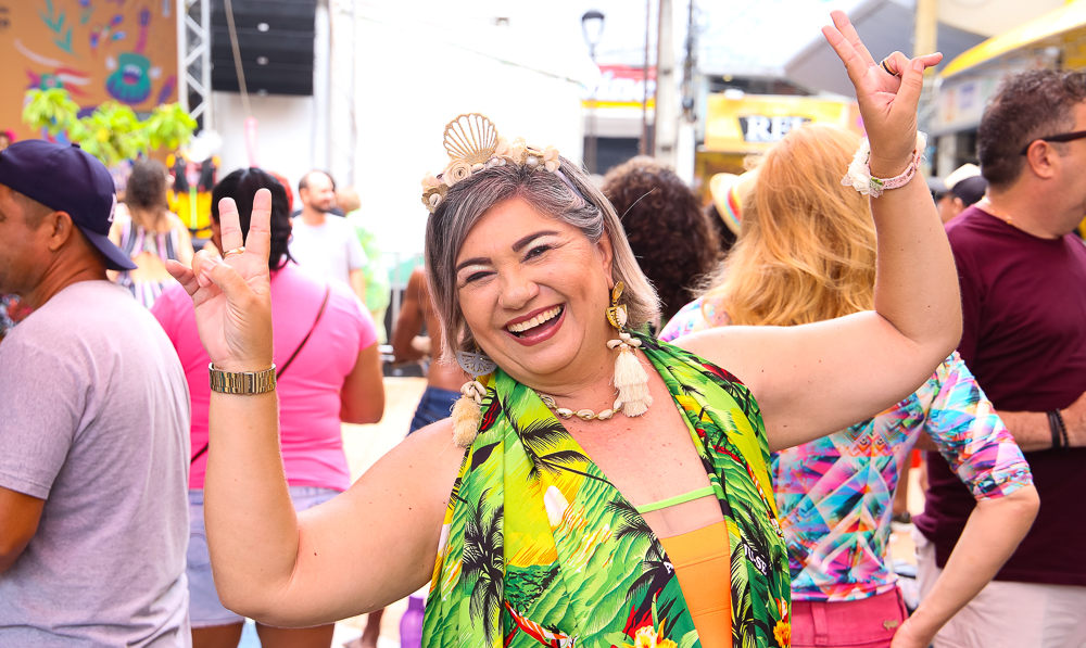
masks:
{"label": "man in maroon t-shirt wearing dark sunglasses, facing right", "polygon": [[[947,225],[964,327],[958,352],[1025,452],[1033,529],[944,626],[936,648],[1086,646],[1086,75],[1011,77],[977,130],[986,195]],[[926,594],[975,503],[930,455],[915,519]],[[921,535],[922,534],[922,535]],[[956,557],[957,558],[957,557]]]}

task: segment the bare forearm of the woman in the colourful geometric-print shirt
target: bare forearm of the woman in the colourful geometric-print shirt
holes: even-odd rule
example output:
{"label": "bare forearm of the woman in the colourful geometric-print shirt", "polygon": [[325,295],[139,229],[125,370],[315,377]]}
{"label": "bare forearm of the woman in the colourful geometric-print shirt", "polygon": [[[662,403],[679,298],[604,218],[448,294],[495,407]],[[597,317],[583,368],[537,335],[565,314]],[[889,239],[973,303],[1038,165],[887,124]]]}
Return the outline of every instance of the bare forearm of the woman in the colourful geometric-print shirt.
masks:
{"label": "bare forearm of the woman in the colourful geometric-print shirt", "polygon": [[969,516],[946,568],[920,608],[894,636],[894,648],[926,648],[935,633],[973,599],[1030,531],[1040,499],[1023,486],[1005,497],[981,499]]}

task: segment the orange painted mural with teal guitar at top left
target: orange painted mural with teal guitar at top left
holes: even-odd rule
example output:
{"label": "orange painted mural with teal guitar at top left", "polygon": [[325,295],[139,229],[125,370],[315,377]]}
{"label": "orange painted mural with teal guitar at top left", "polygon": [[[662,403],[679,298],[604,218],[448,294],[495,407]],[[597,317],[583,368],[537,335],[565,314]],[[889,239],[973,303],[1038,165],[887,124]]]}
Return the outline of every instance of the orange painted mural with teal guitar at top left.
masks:
{"label": "orange painted mural with teal guitar at top left", "polygon": [[177,101],[176,0],[0,0],[0,130],[30,88],[63,87],[89,113],[105,101],[149,112]]}

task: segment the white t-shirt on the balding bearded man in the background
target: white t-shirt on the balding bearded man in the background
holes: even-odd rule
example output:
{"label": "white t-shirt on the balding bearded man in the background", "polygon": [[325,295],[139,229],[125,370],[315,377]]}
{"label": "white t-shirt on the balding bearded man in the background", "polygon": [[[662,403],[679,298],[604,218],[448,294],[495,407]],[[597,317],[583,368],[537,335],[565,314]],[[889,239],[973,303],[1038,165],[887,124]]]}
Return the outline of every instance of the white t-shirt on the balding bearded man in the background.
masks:
{"label": "white t-shirt on the balding bearded man in the background", "polygon": [[345,218],[328,214],[324,225],[306,225],[295,216],[292,223],[290,255],[306,275],[350,285],[351,270],[361,270],[369,263],[354,226]]}

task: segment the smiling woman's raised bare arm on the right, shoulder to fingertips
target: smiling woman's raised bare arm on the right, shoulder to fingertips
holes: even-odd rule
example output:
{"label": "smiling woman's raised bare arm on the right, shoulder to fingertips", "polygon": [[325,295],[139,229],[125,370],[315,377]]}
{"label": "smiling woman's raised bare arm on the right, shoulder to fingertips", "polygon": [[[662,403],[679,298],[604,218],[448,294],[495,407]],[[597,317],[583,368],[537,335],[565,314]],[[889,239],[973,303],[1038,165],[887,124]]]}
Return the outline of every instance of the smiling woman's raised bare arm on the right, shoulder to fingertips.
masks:
{"label": "smiling woman's raised bare arm on the right, shoulder to fingertips", "polygon": [[[896,54],[891,76],[842,12],[823,33],[856,86],[871,173],[902,173],[915,148],[923,69],[938,54]],[[842,176],[847,169],[841,169]],[[919,387],[954,351],[961,307],[950,246],[918,173],[871,201],[877,231],[875,310],[798,327],[725,327],[680,341],[743,380],[761,406],[771,449],[864,420]]]}

